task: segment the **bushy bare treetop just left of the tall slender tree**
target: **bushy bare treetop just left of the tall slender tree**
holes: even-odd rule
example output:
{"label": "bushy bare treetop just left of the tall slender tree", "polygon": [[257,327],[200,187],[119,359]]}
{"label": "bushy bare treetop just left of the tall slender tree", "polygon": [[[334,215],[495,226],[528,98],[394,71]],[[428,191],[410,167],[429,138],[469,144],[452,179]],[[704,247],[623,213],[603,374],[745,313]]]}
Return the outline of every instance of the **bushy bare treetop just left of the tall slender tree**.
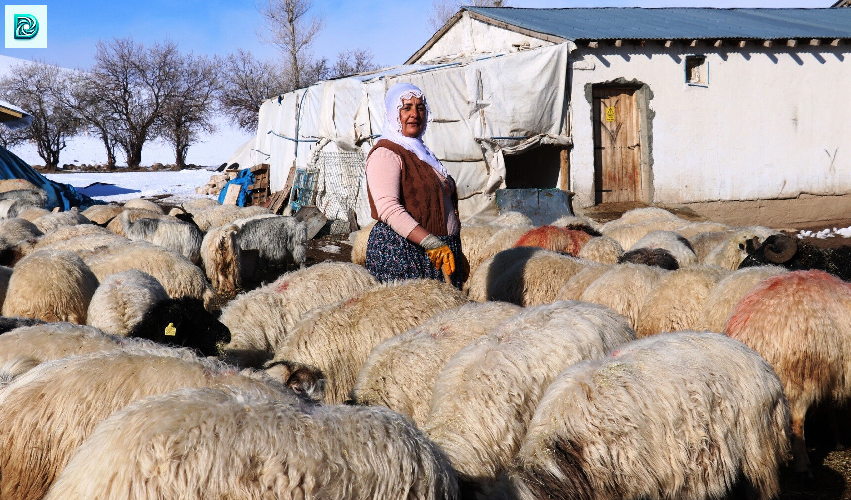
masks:
{"label": "bushy bare treetop just left of the tall slender tree", "polygon": [[247,131],[257,129],[257,112],[263,100],[289,90],[279,66],[254,59],[250,52],[242,49],[227,56],[221,73],[221,111],[231,123]]}

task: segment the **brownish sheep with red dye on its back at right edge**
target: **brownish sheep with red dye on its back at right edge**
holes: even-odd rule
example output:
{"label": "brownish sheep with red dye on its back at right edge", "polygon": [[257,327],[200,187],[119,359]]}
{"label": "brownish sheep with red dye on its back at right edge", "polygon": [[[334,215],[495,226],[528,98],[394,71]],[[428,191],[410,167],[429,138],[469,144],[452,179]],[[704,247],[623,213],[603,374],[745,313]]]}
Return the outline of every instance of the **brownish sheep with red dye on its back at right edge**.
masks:
{"label": "brownish sheep with red dye on its back at right edge", "polygon": [[724,331],[760,353],[789,399],[794,468],[808,470],[808,409],[851,397],[851,284],[824,271],[781,273],[741,298]]}

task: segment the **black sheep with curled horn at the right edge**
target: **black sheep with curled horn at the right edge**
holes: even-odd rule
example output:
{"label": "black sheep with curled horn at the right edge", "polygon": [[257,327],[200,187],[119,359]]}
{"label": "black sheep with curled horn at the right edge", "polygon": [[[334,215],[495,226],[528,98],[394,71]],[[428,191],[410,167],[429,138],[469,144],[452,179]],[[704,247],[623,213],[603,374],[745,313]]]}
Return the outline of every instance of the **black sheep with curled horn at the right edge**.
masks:
{"label": "black sheep with curled horn at the right edge", "polygon": [[745,243],[747,256],[742,267],[774,264],[790,271],[820,269],[844,281],[851,281],[851,246],[820,249],[785,234],[773,234],[762,244],[756,238]]}

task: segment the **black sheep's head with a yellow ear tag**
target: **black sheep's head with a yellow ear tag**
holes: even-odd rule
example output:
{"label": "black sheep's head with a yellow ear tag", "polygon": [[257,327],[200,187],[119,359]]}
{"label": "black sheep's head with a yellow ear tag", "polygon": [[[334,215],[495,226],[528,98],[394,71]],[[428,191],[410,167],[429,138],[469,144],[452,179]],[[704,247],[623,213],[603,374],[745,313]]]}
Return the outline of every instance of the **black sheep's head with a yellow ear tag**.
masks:
{"label": "black sheep's head with a yellow ear tag", "polygon": [[128,336],[195,348],[205,356],[218,356],[218,344],[231,341],[231,331],[190,296],[157,302]]}

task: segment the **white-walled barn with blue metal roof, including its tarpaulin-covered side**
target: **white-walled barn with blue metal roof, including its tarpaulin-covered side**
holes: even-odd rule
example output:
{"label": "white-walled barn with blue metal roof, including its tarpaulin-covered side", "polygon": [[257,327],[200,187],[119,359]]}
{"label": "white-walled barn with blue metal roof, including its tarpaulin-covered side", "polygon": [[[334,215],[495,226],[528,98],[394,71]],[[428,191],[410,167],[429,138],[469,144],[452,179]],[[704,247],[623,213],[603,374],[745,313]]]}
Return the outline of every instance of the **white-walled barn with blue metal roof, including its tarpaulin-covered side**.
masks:
{"label": "white-walled barn with blue metal roof, including its tarpaulin-covered side", "polygon": [[851,9],[464,8],[403,66],[266,101],[243,165],[271,164],[273,189],[312,168],[311,203],[363,223],[363,157],[397,81],[430,96],[424,139],[466,221],[500,187],[731,224],[851,219]]}

